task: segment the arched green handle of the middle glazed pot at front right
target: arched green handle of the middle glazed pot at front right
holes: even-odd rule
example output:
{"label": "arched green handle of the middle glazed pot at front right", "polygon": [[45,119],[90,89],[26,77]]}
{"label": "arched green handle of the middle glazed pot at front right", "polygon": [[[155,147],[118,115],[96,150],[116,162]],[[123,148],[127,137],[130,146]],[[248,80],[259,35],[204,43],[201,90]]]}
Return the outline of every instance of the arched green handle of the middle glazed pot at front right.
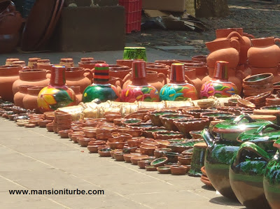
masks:
{"label": "arched green handle of the middle glazed pot at front right", "polygon": [[258,154],[258,156],[262,157],[267,162],[270,160],[269,154],[267,154],[267,152],[265,152],[265,150],[262,150],[262,148],[260,148],[258,145],[255,145],[254,143],[247,141],[247,142],[241,144],[241,146],[239,147],[239,150],[236,154],[236,157],[232,158],[232,159],[234,159],[234,162],[233,162],[234,166],[237,166],[238,164],[240,164],[241,154],[244,150],[249,150],[251,152],[254,152],[255,154]]}

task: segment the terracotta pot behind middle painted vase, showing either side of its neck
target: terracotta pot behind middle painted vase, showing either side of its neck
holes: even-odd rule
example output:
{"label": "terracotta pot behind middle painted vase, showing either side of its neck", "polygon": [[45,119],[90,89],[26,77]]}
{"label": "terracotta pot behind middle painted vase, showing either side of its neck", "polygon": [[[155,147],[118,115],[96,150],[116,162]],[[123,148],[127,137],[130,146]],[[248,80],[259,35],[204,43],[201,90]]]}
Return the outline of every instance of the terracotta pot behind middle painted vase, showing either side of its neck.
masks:
{"label": "terracotta pot behind middle painted vase, showing either side of its neck", "polygon": [[[125,89],[128,85],[132,85],[132,73],[125,76],[124,81],[123,89]],[[162,89],[162,87],[167,84],[167,77],[164,73],[146,71],[146,81],[148,82],[148,85],[155,87],[158,92],[160,92],[160,89]]]}

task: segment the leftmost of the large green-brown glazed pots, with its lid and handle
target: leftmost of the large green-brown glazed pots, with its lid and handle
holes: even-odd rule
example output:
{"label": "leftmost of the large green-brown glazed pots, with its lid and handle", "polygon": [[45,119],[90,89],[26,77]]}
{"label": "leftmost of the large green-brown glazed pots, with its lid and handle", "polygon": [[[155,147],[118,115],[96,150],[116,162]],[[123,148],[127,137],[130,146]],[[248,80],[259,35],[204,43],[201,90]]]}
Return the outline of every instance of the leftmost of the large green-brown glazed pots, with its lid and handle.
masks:
{"label": "leftmost of the large green-brown glazed pots, with its lid and handle", "polygon": [[[261,127],[272,122],[255,121],[248,115],[240,115],[232,122],[221,122],[214,126],[213,134],[207,129],[202,131],[202,138],[207,143],[205,154],[205,169],[214,188],[223,196],[236,199],[229,179],[229,168],[232,157],[239,150],[241,142],[237,141],[239,134],[246,130]],[[218,135],[215,138],[214,135]]]}

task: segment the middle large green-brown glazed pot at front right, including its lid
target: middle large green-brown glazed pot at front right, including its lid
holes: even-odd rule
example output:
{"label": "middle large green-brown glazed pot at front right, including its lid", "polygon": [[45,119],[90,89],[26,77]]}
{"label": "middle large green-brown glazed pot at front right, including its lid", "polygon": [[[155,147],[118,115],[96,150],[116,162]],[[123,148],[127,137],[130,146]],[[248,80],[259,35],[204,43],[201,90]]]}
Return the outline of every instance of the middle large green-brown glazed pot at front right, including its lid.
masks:
{"label": "middle large green-brown glazed pot at front right, including its lid", "polygon": [[280,127],[267,123],[241,133],[242,143],[230,164],[230,185],[237,199],[247,208],[269,208],[263,189],[267,161],[276,153],[273,143],[280,137]]}

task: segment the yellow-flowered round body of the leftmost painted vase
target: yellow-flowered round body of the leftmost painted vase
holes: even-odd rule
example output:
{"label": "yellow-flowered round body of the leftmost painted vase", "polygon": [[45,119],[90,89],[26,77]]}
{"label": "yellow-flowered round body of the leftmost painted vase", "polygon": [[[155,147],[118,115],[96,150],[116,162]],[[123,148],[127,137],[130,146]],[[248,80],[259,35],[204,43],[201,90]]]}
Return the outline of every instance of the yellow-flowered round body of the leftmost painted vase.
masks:
{"label": "yellow-flowered round body of the leftmost painted vase", "polygon": [[41,89],[38,94],[38,108],[42,112],[53,111],[57,108],[64,108],[67,106],[75,105],[75,93],[72,89],[55,89],[54,87],[48,86]]}

